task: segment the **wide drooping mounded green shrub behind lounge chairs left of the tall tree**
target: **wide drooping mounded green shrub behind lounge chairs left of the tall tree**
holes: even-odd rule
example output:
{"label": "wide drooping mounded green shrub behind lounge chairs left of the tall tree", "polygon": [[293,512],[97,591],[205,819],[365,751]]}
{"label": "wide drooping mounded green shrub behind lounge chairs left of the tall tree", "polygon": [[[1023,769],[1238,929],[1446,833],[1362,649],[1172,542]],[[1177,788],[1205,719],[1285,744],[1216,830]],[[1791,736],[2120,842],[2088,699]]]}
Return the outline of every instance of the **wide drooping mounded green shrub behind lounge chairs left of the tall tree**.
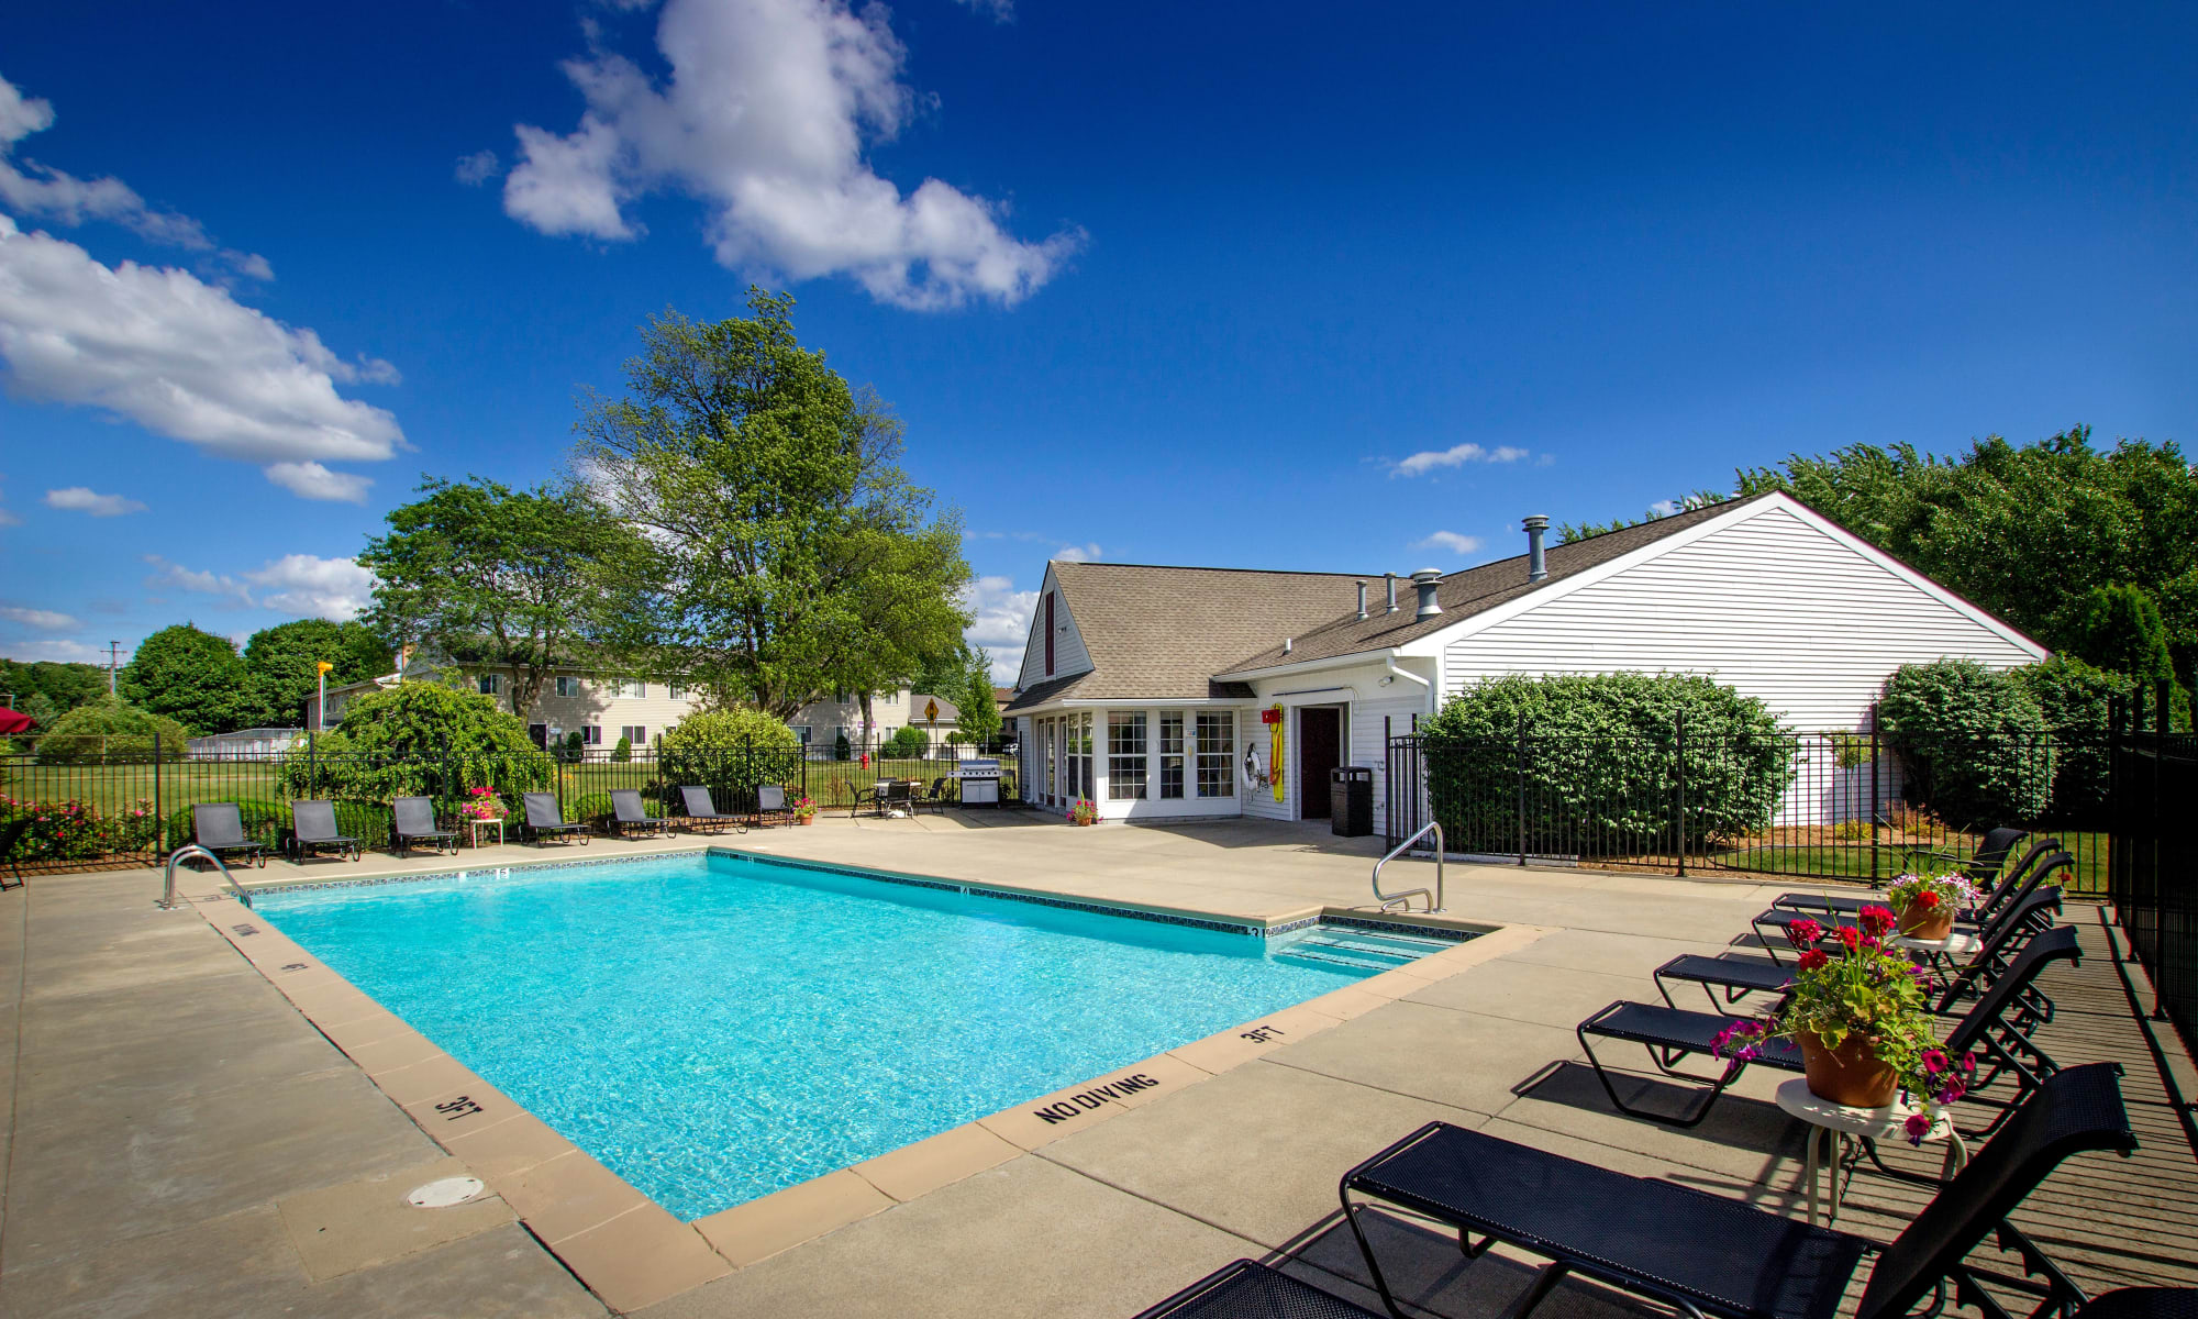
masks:
{"label": "wide drooping mounded green shrub behind lounge chairs left of the tall tree", "polygon": [[495,787],[508,805],[550,785],[550,763],[528,730],[495,699],[431,681],[402,681],[356,697],[343,728],[314,754],[290,754],[286,796],[389,802],[400,796],[457,798]]}

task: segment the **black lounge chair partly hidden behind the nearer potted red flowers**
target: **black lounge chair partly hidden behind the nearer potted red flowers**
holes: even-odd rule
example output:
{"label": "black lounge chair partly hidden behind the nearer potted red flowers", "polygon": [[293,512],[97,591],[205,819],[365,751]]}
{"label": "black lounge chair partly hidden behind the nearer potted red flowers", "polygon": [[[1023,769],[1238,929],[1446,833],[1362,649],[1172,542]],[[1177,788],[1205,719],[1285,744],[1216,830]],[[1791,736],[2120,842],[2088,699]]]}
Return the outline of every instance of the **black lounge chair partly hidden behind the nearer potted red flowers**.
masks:
{"label": "black lounge chair partly hidden behind the nearer potted red flowers", "polygon": [[[2077,963],[2082,947],[2077,947],[2075,930],[2068,925],[2057,925],[2038,939],[2031,939],[2029,947],[2016,956],[2013,965],[1985,989],[1969,1011],[1954,1022],[1947,1031],[1945,1051],[1952,1055],[1980,1053],[1976,1079],[1969,1084],[1969,1095],[1978,1104],[1994,1104],[1978,1095],[1978,1090],[1991,1086],[2000,1075],[2011,1075],[2016,1079],[2016,1097],[2002,1099],[1994,1106],[2016,1104],[2027,1090],[2033,1090],[2044,1077],[2053,1075],[2057,1064],[2046,1057],[2046,1053],[2031,1040],[2031,1031],[2038,1027],[2038,1013],[2024,1007],[2027,991],[2038,974],[2046,969],[2049,963],[2068,961]],[[1618,1000],[1596,1016],[1587,1018],[1574,1029],[1580,1040],[1580,1049],[1587,1051],[1587,1064],[1596,1068],[1596,1079],[1602,1082],[1602,1093],[1611,1097],[1611,1104],[1629,1115],[1657,1121],[1664,1126],[1690,1128],[1710,1115],[1717,1106],[1717,1097],[1741,1079],[1747,1071],[1747,1062],[1732,1057],[1725,1060],[1725,1071],[1717,1077],[1703,1077],[1695,1073],[1684,1073],[1677,1068],[1681,1057],[1692,1053],[1712,1053],[1717,1049],[1717,1035],[1732,1027],[1734,1018],[1714,1011],[1688,1011],[1684,1007],[1662,1007],[1655,1002],[1627,1002]],[[1596,1046],[1589,1044],[1589,1035],[1600,1040],[1627,1040],[1648,1049],[1648,1060],[1666,1077],[1690,1082],[1695,1086],[1708,1086],[1708,1095],[1692,1115],[1668,1117],[1662,1112],[1651,1112],[1646,1108],[1633,1108],[1618,1097],[1618,1086],[1611,1084],[1609,1073],[1602,1071],[1602,1060],[1596,1057]],[[1763,1040],[1763,1053],[1754,1060],[1761,1066],[1798,1073],[1800,1046],[1787,1040]],[[1985,1130],[1989,1132],[2005,1119],[1994,1119]]]}

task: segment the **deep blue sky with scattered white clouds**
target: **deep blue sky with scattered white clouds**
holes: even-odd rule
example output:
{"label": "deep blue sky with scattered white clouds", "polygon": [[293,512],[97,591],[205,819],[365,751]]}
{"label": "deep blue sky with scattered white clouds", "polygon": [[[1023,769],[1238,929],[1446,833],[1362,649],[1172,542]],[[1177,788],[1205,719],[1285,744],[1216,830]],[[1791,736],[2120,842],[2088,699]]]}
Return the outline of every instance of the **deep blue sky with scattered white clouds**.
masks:
{"label": "deep blue sky with scattered white clouds", "polygon": [[343,616],[422,473],[550,477],[750,281],[908,422],[1002,660],[1062,552],[1448,569],[1789,451],[2189,446],[2198,11],[1914,9],[13,13],[0,653]]}

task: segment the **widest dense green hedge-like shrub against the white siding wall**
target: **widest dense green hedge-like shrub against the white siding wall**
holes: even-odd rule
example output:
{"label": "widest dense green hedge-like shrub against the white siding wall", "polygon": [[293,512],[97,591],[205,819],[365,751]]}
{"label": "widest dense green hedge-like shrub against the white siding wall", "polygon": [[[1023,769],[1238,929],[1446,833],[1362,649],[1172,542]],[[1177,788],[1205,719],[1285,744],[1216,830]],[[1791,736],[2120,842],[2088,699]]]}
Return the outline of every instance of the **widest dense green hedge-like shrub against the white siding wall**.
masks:
{"label": "widest dense green hedge-like shrub against the white siding wall", "polygon": [[1646,673],[1497,677],[1453,697],[1422,725],[1435,818],[1457,846],[1517,846],[1523,723],[1528,851],[1670,844],[1681,710],[1688,842],[1765,829],[1796,774],[1776,717],[1708,677]]}

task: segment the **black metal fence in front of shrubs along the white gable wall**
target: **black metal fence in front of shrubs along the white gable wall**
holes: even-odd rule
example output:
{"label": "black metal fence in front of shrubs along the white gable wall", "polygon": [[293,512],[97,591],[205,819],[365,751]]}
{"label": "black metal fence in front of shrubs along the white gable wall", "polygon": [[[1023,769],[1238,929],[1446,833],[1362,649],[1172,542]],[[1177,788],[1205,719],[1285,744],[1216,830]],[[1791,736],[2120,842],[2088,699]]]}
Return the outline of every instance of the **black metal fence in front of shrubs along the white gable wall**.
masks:
{"label": "black metal fence in front of shrubs along the white gable wall", "polygon": [[[1451,853],[1514,864],[1888,879],[1952,864],[1994,824],[2051,831],[2077,893],[2106,893],[2108,736],[1987,739],[1925,767],[1877,732],[1389,739],[1389,846],[1440,820]],[[1934,785],[1919,785],[1930,772]],[[1908,800],[2018,800],[2024,818],[1943,818]],[[1961,791],[1965,789],[1965,791]]]}

